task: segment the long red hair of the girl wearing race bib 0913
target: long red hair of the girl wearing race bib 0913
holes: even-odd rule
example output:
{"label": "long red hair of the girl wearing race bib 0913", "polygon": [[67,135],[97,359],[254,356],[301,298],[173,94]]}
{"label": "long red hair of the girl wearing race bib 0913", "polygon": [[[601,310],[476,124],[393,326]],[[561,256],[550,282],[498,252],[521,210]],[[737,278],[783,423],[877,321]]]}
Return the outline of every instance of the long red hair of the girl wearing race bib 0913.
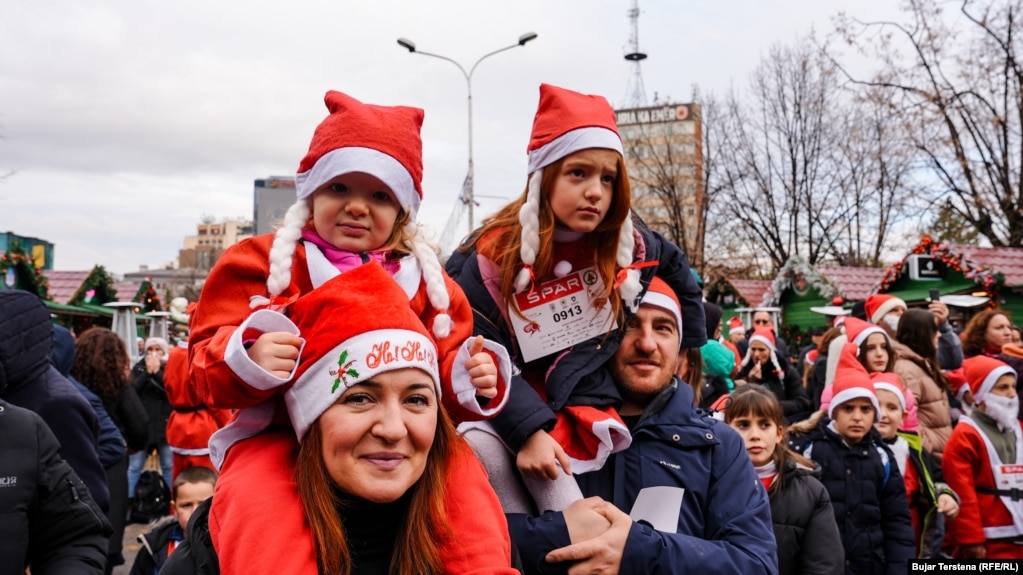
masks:
{"label": "long red hair of the girl wearing race bib 0913", "polygon": [[[569,157],[566,157],[569,158]],[[543,168],[540,180],[540,206],[538,211],[540,221],[539,250],[536,261],[533,262],[533,274],[536,281],[545,281],[553,277],[554,242],[554,212],[550,209],[550,193],[554,182],[562,173],[565,158]],[[479,250],[479,242],[492,242],[493,251],[485,254],[497,263],[501,269],[501,296],[505,302],[514,302],[515,279],[522,269],[522,224],[519,223],[519,210],[526,203],[528,189],[523,190],[518,200],[501,208],[499,212],[483,221],[483,225],[473,236],[461,245],[459,250]],[[604,280],[604,289],[611,302],[615,317],[619,317],[622,303],[615,294],[615,274],[617,270],[618,235],[621,232],[625,218],[631,217],[632,192],[629,188],[629,178],[625,171],[625,160],[618,157],[618,175],[615,177],[614,194],[611,207],[604,220],[592,232],[587,233],[583,241],[587,252],[593,254],[593,265]]]}

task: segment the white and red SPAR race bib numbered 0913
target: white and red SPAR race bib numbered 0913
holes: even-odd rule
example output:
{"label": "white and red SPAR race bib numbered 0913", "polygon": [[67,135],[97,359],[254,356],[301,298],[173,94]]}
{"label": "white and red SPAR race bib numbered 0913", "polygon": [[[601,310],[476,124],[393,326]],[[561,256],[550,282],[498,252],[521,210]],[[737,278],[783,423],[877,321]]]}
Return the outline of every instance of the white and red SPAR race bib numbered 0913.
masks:
{"label": "white and red SPAR race bib numbered 0913", "polygon": [[601,274],[589,267],[515,295],[511,327],[524,361],[550,355],[618,327]]}

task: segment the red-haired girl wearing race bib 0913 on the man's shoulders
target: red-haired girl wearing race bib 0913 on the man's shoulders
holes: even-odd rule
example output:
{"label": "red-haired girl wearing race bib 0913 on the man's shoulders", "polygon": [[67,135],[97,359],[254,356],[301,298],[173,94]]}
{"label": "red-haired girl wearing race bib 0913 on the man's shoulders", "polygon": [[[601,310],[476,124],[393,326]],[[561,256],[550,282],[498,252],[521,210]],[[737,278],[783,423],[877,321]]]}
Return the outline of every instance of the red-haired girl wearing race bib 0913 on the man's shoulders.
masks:
{"label": "red-haired girl wearing race bib 0913 on the man's shoulders", "polygon": [[465,430],[505,511],[580,498],[569,474],[599,469],[629,444],[604,368],[655,273],[681,301],[681,347],[707,340],[702,293],[685,255],[631,213],[615,113],[601,96],[543,84],[528,146],[530,176],[447,263],[476,312],[476,333],[513,351],[507,406]]}

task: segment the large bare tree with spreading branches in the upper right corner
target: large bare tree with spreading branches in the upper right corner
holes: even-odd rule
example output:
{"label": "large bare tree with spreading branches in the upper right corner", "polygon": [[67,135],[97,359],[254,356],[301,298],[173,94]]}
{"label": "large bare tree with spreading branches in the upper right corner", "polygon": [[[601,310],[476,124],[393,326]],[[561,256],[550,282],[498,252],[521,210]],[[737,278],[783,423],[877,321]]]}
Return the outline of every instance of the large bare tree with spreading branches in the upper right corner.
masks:
{"label": "large bare tree with spreading branches in the upper right corner", "polygon": [[937,0],[907,0],[905,13],[906,23],[837,18],[880,65],[854,81],[891,102],[929,169],[932,205],[951,198],[992,246],[1023,247],[1023,0],[964,0],[951,17]]}

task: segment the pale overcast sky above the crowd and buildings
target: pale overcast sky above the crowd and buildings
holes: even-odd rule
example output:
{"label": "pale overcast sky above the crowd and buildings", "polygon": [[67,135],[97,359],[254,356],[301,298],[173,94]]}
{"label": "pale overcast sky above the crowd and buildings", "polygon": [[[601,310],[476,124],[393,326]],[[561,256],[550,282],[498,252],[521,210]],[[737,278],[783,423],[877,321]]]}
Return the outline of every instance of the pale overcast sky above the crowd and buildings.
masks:
{"label": "pale overcast sky above the crowd and buildings", "polygon": [[[640,0],[648,98],[746,86],[771,44],[894,0]],[[628,0],[6,0],[0,8],[0,232],[55,269],[173,261],[204,215],[251,218],[253,181],[293,175],[323,94],[426,109],[420,221],[439,235],[465,175],[473,77],[479,219],[525,185],[541,82],[626,102]],[[496,196],[487,198],[481,196]],[[465,224],[468,225],[468,224]]]}

